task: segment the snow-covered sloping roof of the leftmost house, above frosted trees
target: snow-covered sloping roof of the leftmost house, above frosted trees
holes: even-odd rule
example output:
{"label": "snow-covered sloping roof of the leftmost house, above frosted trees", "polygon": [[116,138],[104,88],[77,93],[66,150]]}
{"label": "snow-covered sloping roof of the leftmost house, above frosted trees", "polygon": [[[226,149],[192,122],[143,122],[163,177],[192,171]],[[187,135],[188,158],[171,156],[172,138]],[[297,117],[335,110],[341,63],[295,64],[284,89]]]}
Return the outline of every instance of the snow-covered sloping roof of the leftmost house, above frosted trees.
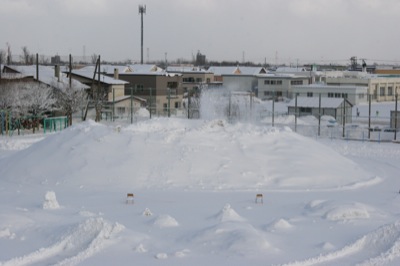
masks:
{"label": "snow-covered sloping roof of the leftmost house, above frosted trees", "polygon": [[[7,66],[8,68],[20,73],[24,77],[36,78],[36,65],[29,66]],[[60,78],[55,76],[53,67],[39,65],[39,82],[52,86],[54,88],[64,88],[69,86],[69,79],[65,74],[60,73]],[[89,87],[77,80],[72,80],[72,86],[77,89],[88,89]]]}

